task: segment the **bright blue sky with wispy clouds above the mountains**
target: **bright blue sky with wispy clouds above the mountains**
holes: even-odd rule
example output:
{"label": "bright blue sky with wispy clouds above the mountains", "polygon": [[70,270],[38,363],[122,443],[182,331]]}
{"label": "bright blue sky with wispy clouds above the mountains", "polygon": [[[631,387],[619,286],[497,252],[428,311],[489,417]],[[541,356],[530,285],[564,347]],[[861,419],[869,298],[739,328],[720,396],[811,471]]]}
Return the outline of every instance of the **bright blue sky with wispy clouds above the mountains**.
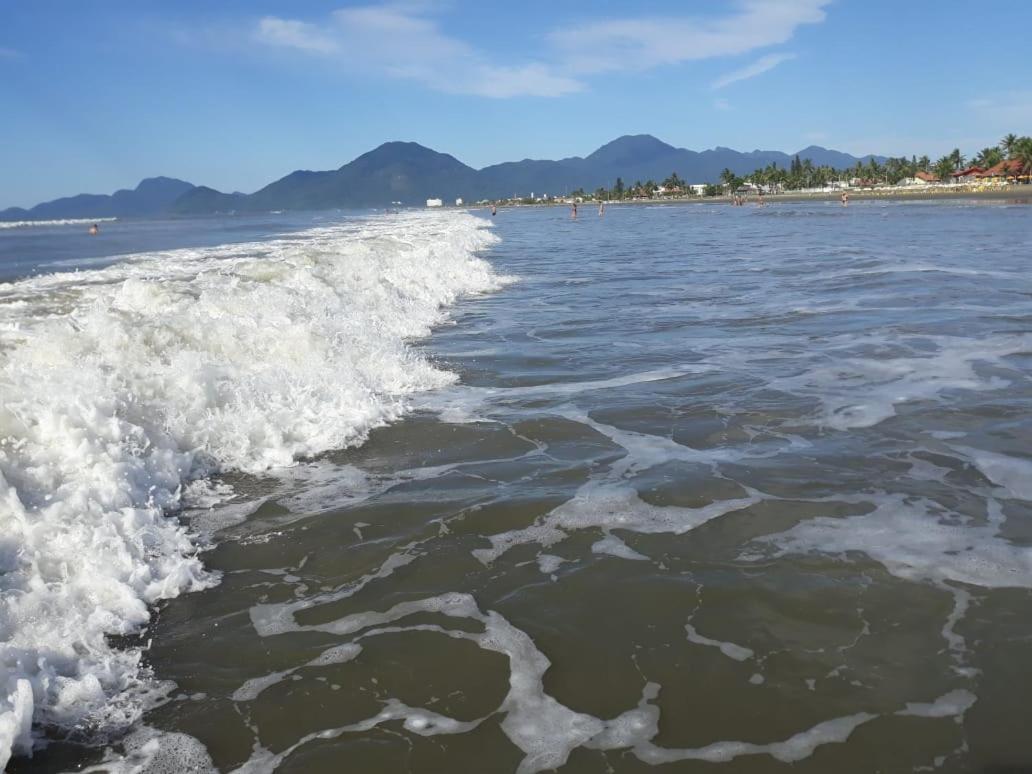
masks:
{"label": "bright blue sky with wispy clouds above the mountains", "polygon": [[1020,0],[0,0],[0,207],[250,192],[389,139],[971,155],[1032,133],[1030,28]]}

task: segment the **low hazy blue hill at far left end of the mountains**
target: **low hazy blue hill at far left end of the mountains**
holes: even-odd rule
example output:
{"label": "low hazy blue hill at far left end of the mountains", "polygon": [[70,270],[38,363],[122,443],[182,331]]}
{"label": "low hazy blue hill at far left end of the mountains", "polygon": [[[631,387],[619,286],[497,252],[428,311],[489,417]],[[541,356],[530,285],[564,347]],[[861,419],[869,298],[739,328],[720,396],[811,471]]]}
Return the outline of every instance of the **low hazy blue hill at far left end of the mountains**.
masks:
{"label": "low hazy blue hill at far left end of the mountains", "polygon": [[30,209],[0,211],[0,221],[57,220],[61,218],[124,218],[162,215],[194,185],[174,178],[148,178],[133,190],[107,194],[78,194],[45,201]]}

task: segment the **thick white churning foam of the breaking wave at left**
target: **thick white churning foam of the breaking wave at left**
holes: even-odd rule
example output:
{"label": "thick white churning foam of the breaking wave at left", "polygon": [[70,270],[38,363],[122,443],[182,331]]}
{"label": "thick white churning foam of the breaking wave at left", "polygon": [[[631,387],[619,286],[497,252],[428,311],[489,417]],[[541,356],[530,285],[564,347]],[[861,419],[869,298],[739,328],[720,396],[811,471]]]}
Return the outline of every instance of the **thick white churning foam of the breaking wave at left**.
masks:
{"label": "thick white churning foam of the breaking wave at left", "polygon": [[395,216],[0,285],[0,768],[32,722],[135,719],[141,653],[108,636],[215,581],[167,517],[188,482],[360,443],[453,381],[407,342],[503,282],[485,225]]}

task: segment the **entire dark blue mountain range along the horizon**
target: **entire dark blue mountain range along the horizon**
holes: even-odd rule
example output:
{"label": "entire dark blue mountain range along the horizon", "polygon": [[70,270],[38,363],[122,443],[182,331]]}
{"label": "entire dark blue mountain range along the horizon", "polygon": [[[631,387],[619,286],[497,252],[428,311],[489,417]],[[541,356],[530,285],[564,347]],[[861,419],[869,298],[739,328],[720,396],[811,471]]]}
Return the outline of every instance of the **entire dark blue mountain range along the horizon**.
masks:
{"label": "entire dark blue mountain range along the horizon", "polygon": [[672,172],[689,183],[715,183],[724,168],[739,175],[776,163],[787,167],[794,156],[838,169],[879,156],[856,157],[818,146],[798,154],[779,151],[742,153],[730,148],[688,151],[649,134],[625,135],[586,157],[558,161],[524,159],[474,169],[454,156],[416,142],[385,142],[338,169],[297,170],[252,194],[222,193],[172,178],[150,178],[134,190],[111,195],[79,194],[37,204],[10,207],[0,220],[205,215],[219,212],[323,209],[385,206],[392,202],[422,205],[427,198],[452,201],[593,191],[617,178],[662,181]]}

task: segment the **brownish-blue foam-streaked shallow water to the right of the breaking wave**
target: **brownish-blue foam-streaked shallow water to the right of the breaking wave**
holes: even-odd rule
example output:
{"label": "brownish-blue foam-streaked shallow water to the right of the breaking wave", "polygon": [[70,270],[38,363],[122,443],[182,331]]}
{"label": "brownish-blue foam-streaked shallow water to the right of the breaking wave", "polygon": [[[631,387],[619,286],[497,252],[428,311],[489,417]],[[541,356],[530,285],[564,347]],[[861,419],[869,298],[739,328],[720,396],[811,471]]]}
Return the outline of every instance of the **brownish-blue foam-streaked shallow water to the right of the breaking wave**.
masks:
{"label": "brownish-blue foam-streaked shallow water to the right of the breaking wave", "polygon": [[10,770],[1032,767],[1032,209],[494,226],[458,383],[222,476],[128,642],[168,700]]}

